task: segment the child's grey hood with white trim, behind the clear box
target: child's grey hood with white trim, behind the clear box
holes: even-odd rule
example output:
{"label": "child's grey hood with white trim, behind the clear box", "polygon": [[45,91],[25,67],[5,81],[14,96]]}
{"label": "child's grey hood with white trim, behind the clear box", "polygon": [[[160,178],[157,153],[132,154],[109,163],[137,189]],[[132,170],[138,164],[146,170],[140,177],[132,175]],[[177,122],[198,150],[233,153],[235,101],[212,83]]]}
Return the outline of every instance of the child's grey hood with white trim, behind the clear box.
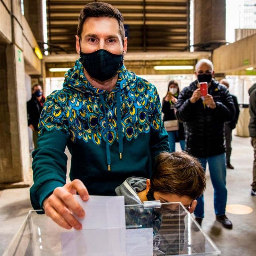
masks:
{"label": "child's grey hood with white trim, behind the clear box", "polygon": [[146,189],[147,179],[140,177],[130,177],[126,179],[120,186],[116,187],[116,195],[124,196],[124,204],[142,204],[138,192]]}

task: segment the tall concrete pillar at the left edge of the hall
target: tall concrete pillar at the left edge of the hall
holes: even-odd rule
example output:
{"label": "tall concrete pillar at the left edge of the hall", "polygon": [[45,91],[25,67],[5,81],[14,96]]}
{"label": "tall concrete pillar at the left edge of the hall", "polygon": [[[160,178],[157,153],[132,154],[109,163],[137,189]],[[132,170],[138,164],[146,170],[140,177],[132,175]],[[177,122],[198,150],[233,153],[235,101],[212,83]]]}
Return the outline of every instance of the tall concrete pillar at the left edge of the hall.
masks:
{"label": "tall concrete pillar at the left edge of the hall", "polygon": [[20,1],[10,6],[12,42],[0,44],[0,189],[31,182]]}

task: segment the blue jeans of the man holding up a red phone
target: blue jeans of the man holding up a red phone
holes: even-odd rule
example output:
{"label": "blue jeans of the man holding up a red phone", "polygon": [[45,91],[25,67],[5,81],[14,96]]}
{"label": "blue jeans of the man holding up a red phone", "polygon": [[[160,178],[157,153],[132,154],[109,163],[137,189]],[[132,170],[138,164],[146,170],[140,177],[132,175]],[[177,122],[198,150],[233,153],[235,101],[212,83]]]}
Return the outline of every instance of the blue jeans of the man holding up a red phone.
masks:
{"label": "blue jeans of the man holding up a red phone", "polygon": [[[198,158],[201,162],[204,172],[208,162],[212,186],[214,188],[214,211],[216,215],[225,214],[227,204],[226,188],[226,158],[225,153],[218,156]],[[204,195],[198,197],[194,214],[198,218],[204,218]]]}

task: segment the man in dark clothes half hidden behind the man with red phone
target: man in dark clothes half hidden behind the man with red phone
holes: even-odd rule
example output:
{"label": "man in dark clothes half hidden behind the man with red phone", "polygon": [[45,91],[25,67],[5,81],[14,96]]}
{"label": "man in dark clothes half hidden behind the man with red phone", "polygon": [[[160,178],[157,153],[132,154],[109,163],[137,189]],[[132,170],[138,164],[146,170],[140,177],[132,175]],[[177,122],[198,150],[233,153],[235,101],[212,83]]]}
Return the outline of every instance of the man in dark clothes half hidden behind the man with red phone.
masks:
{"label": "man in dark clothes half hidden behind the man with red phone", "polygon": [[[221,79],[220,84],[224,84],[227,88],[229,88],[229,83],[228,83],[227,79]],[[240,109],[239,109],[239,105],[238,105],[236,96],[231,93],[230,93],[230,95],[233,99],[233,102],[234,102],[234,105],[236,108],[236,112],[235,112],[234,119],[232,121],[226,122],[224,124],[224,131],[225,131],[225,141],[226,141],[226,165],[227,165],[228,169],[234,169],[234,166],[232,164],[230,164],[230,156],[231,156],[231,151],[232,151],[232,148],[231,148],[232,130],[236,128]]]}

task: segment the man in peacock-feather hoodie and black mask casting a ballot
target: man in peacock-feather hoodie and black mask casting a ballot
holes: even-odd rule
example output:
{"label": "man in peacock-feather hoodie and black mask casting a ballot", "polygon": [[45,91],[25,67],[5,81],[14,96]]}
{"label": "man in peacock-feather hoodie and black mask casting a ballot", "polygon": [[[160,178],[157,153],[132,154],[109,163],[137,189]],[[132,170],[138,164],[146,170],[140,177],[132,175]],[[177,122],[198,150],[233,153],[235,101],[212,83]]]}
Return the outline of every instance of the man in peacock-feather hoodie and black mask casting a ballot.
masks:
{"label": "man in peacock-feather hoodie and black mask casting a ballot", "polygon": [[[32,206],[68,229],[82,228],[72,212],[85,216],[73,194],[84,201],[89,194],[115,195],[128,177],[150,178],[155,157],[170,151],[155,86],[123,65],[122,14],[107,3],[85,5],[76,51],[80,59],[65,74],[63,89],[44,105],[30,189]],[[72,155],[69,183],[66,146]]]}

